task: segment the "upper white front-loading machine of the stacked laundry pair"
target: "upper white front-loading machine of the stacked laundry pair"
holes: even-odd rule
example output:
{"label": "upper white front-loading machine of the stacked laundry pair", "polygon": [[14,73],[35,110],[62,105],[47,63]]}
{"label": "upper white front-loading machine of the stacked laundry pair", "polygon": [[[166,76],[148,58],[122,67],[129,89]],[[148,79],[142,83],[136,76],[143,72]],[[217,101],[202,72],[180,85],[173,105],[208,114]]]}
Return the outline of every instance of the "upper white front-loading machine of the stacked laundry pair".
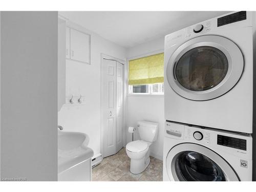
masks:
{"label": "upper white front-loading machine of the stacked laundry pair", "polygon": [[253,12],[165,36],[165,119],[252,133]]}

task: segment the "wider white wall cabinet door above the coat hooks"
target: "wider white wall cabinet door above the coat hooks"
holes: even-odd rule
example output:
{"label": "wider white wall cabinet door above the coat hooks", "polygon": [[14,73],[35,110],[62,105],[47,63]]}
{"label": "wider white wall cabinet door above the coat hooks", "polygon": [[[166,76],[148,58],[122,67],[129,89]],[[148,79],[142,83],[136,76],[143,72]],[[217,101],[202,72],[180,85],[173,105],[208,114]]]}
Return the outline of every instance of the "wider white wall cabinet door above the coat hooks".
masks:
{"label": "wider white wall cabinet door above the coat hooks", "polygon": [[90,63],[90,35],[70,29],[70,58]]}

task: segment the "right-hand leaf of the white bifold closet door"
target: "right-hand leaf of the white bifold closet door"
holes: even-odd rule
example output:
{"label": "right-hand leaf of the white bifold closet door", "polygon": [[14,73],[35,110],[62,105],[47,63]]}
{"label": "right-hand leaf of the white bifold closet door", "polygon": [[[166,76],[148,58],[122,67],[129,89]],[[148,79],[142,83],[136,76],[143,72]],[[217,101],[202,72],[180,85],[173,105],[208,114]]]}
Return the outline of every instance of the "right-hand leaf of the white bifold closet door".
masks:
{"label": "right-hand leaf of the white bifold closet door", "polygon": [[116,152],[123,147],[123,65],[116,62]]}

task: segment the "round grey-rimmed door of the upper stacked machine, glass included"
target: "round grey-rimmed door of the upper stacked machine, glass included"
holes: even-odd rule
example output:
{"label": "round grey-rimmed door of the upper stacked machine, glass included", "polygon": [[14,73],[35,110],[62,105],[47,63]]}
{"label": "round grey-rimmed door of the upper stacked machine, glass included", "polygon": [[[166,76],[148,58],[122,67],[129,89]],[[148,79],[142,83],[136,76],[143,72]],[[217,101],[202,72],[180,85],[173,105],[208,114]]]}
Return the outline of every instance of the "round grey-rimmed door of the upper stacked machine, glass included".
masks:
{"label": "round grey-rimmed door of the upper stacked machine, glass included", "polygon": [[191,100],[217,98],[240,79],[244,59],[231,40],[205,35],[186,41],[170,57],[166,76],[170,87]]}

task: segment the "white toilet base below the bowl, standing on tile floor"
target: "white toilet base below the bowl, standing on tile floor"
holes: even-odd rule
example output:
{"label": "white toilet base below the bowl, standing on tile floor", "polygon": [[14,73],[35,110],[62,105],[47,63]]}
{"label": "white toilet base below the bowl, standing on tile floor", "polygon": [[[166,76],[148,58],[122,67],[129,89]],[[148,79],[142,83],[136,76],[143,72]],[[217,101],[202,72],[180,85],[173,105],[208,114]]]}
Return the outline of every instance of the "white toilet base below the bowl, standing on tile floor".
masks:
{"label": "white toilet base below the bowl, standing on tile floor", "polygon": [[142,173],[146,167],[150,164],[150,155],[149,153],[142,159],[131,159],[130,172],[132,174]]}

